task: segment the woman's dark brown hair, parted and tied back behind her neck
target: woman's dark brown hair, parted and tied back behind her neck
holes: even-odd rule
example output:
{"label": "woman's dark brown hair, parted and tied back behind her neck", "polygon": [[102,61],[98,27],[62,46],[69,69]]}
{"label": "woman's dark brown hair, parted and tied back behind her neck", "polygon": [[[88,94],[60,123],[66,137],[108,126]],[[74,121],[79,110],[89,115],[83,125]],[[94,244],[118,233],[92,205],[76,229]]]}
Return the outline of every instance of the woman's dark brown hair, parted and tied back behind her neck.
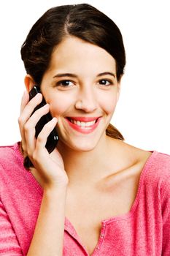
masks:
{"label": "woman's dark brown hair, parted and tied back behind her neck", "polygon": [[[64,37],[74,36],[98,45],[112,55],[116,62],[117,80],[120,81],[125,67],[123,38],[116,24],[103,12],[90,4],[72,4],[47,10],[29,31],[21,48],[26,72],[37,85],[50,67],[55,47]],[[123,135],[109,124],[107,135],[124,140]]]}

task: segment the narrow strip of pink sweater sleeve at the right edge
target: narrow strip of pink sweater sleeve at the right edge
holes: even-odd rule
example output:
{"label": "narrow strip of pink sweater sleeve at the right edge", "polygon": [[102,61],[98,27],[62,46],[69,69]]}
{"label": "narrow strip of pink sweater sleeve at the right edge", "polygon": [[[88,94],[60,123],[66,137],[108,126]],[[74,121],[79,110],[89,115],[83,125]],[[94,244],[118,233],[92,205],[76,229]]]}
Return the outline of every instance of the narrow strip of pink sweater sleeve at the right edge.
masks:
{"label": "narrow strip of pink sweater sleeve at the right edge", "polygon": [[162,217],[163,217],[163,248],[162,255],[170,255],[170,178],[163,184],[162,189]]}

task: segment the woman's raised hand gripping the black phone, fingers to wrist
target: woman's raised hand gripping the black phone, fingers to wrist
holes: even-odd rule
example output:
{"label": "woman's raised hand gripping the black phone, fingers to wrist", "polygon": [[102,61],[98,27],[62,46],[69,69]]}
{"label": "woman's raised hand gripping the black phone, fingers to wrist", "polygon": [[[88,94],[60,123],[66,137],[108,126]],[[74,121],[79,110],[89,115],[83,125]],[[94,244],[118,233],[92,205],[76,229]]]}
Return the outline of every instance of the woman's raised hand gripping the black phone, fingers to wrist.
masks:
{"label": "woman's raised hand gripping the black phone, fingers to wrist", "polygon": [[40,102],[42,102],[42,94],[36,94],[29,101],[28,92],[24,92],[20,106],[20,117],[18,118],[23,154],[25,157],[28,156],[31,159],[35,167],[33,169],[36,174],[35,176],[39,177],[44,189],[66,187],[69,179],[64,170],[61,154],[56,148],[49,154],[47,148],[45,148],[47,137],[57,124],[57,118],[53,118],[45,124],[37,139],[35,138],[37,122],[50,111],[50,105],[47,104],[36,110],[31,116],[34,108]]}

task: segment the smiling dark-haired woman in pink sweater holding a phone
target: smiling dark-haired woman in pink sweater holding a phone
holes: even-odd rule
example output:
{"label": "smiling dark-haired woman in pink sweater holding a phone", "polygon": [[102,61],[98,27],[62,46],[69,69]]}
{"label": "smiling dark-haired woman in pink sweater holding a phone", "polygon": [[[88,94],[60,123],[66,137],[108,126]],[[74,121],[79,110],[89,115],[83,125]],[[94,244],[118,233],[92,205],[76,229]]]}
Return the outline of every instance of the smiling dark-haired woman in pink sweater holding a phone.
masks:
{"label": "smiling dark-haired woman in pink sweater holding a phone", "polygon": [[169,255],[170,157],[128,145],[109,124],[125,67],[115,23],[88,4],[54,7],[21,55],[22,143],[0,151],[0,255]]}

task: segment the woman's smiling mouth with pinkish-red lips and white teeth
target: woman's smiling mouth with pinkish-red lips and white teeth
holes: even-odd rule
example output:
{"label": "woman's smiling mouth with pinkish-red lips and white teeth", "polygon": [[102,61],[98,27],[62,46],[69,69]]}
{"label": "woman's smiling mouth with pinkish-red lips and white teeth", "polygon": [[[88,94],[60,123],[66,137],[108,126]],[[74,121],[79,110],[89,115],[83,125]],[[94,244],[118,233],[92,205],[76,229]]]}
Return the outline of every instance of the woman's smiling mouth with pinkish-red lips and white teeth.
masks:
{"label": "woman's smiling mouth with pinkish-red lips and white teeth", "polygon": [[69,126],[78,132],[88,134],[93,132],[99,124],[101,117],[67,117]]}

